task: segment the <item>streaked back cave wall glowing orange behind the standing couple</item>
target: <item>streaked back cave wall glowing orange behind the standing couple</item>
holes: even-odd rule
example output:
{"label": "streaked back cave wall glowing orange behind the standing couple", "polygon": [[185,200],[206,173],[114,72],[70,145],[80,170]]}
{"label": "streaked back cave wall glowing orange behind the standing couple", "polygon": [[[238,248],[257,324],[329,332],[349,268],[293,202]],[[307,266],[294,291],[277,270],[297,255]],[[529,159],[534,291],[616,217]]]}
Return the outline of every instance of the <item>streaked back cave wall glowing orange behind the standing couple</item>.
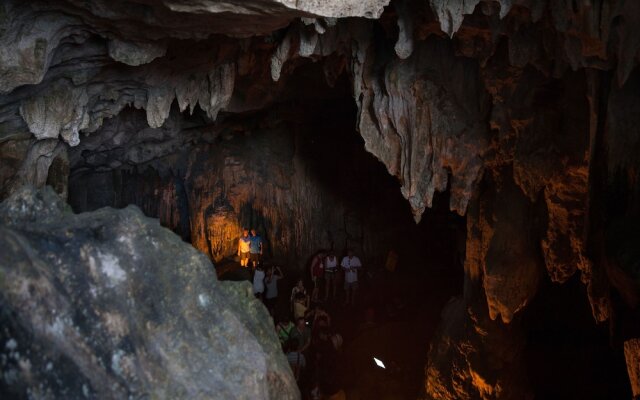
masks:
{"label": "streaked back cave wall glowing orange behind the standing couple", "polygon": [[380,265],[412,223],[405,207],[393,210],[393,179],[358,151],[347,101],[287,103],[215,124],[174,107],[161,128],[125,110],[70,149],[69,203],[77,212],[136,204],[215,262],[233,258],[242,228],[253,227],[267,259],[292,270],[320,248],[351,247]]}

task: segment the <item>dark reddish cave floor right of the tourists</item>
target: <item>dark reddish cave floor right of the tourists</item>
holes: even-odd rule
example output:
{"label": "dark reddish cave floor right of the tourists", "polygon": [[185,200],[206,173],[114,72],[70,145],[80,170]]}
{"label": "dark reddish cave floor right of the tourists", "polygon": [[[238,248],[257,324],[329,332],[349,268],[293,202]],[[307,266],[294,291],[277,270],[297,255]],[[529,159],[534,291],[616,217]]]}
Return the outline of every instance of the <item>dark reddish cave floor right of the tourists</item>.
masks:
{"label": "dark reddish cave floor right of the tourists", "polygon": [[[462,290],[459,269],[450,268],[451,260],[437,253],[430,251],[427,260],[411,260],[414,265],[405,261],[393,273],[368,266],[368,273],[360,277],[355,306],[343,305],[341,289],[336,299],[322,302],[332,318],[331,330],[344,339],[336,375],[348,399],[413,400],[421,395],[429,342],[440,312]],[[217,269],[223,271],[219,275],[223,281],[250,279],[249,271],[234,261]],[[275,318],[290,314],[288,294],[299,278],[294,271],[284,273]],[[312,287],[310,282],[306,287]],[[374,317],[367,321],[371,312]],[[377,367],[373,357],[386,369]]]}

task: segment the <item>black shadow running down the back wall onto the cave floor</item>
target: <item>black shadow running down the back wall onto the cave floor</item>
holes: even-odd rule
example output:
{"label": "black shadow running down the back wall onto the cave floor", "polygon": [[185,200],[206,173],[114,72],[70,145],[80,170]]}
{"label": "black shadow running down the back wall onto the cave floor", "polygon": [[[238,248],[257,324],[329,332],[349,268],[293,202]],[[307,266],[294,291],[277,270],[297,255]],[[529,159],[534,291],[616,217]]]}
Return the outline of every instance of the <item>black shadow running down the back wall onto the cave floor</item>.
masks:
{"label": "black shadow running down the back wall onto the cave floor", "polygon": [[[299,76],[317,81],[319,72],[315,66],[300,68]],[[342,284],[338,298],[323,303],[332,317],[332,331],[344,340],[332,374],[335,387],[343,388],[348,398],[415,399],[424,387],[429,341],[440,311],[451,296],[461,294],[466,219],[448,210],[445,193],[437,194],[433,208],[415,223],[397,179],[365,150],[355,130],[357,110],[344,89],[347,85],[343,76],[330,98],[310,98],[305,91],[268,112],[270,118],[287,121],[295,132],[303,168],[317,185],[347,205],[344,234],[330,237],[328,247],[338,260],[347,248],[354,248],[363,260],[357,304],[342,304]],[[376,242],[375,254],[362,251],[378,237],[368,229],[384,237]],[[394,271],[384,268],[391,250],[398,255]],[[291,314],[289,294],[297,279],[312,286],[308,266],[313,255],[301,255],[303,270],[285,270],[276,322]],[[224,271],[222,279],[250,279],[249,271],[232,261],[217,269]],[[324,293],[322,283],[320,292]],[[376,366],[374,357],[386,368]],[[304,392],[313,386],[318,371],[307,373]]]}

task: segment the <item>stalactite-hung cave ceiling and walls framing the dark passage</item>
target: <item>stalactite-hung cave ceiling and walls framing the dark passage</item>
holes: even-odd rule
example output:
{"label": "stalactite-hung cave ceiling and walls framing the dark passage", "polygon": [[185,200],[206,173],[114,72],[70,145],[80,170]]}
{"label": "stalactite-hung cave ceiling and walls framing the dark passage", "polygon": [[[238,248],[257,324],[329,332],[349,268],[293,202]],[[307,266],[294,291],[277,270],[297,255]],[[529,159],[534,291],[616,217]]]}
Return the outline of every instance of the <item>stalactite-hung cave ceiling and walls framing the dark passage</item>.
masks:
{"label": "stalactite-hung cave ceiling and walls framing the dark passage", "polygon": [[[305,79],[315,68],[328,86],[348,86],[365,148],[398,178],[416,220],[443,191],[467,216],[465,293],[433,344],[426,396],[526,397],[514,372],[519,316],[542,280],[575,274],[594,323],[621,331],[639,396],[640,330],[619,325],[638,313],[637,261],[633,245],[603,243],[640,212],[640,3],[388,3],[6,1],[0,195],[50,184],[65,196],[71,186],[79,209],[91,198],[146,201],[212,258],[232,252],[252,216],[270,224],[288,214],[269,241],[307,252],[319,236],[305,232],[327,211],[301,204],[348,207],[304,185],[297,147],[277,142],[291,125],[253,114],[301,97],[331,101]],[[144,109],[142,122],[131,108]],[[234,150],[252,142],[247,132],[272,133]],[[260,150],[274,171],[267,180],[247,173],[245,158]],[[126,185],[137,185],[135,201]],[[505,343],[514,343],[506,361]],[[456,354],[464,361],[452,368]],[[484,355],[502,362],[488,368]]]}

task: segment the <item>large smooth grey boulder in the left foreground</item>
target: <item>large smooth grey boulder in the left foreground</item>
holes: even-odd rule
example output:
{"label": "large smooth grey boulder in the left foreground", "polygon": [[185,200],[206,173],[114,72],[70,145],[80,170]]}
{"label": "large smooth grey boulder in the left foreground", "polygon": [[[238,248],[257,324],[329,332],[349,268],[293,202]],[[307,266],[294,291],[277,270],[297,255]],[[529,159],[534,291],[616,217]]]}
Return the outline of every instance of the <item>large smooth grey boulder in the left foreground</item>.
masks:
{"label": "large smooth grey boulder in the left foreground", "polygon": [[0,249],[3,398],[299,398],[249,285],[136,207],[76,215],[25,187]]}

